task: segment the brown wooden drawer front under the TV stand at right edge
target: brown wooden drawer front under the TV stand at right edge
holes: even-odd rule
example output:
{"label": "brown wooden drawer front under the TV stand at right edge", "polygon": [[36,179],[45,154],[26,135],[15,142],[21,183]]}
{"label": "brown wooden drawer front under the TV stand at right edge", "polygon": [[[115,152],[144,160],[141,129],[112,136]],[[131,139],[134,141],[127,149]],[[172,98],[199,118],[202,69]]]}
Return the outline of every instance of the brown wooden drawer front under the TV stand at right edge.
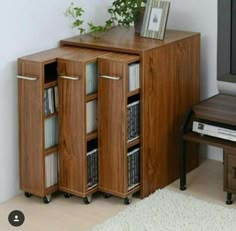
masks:
{"label": "brown wooden drawer front under the TV stand at right edge", "polygon": [[226,152],[225,160],[225,186],[230,190],[236,190],[236,154]]}

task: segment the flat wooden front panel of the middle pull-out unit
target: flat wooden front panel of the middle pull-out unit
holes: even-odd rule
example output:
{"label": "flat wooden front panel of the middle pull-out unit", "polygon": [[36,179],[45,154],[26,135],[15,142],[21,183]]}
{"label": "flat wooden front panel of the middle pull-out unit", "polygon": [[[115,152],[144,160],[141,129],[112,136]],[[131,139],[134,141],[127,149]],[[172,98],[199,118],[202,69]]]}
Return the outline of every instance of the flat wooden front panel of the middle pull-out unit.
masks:
{"label": "flat wooden front panel of the middle pull-out unit", "polygon": [[86,163],[83,69],[81,62],[58,59],[59,186],[75,191],[85,190],[81,180],[85,174],[85,165],[81,163]]}

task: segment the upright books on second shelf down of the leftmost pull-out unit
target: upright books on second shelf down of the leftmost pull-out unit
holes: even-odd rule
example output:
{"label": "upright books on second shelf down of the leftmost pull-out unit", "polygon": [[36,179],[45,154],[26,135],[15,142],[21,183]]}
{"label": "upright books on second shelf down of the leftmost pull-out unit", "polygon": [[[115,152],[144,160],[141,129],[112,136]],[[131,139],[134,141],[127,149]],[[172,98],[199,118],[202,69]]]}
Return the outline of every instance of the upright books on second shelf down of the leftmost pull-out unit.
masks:
{"label": "upright books on second shelf down of the leftmost pull-out unit", "polygon": [[49,87],[44,90],[45,115],[58,111],[58,87]]}

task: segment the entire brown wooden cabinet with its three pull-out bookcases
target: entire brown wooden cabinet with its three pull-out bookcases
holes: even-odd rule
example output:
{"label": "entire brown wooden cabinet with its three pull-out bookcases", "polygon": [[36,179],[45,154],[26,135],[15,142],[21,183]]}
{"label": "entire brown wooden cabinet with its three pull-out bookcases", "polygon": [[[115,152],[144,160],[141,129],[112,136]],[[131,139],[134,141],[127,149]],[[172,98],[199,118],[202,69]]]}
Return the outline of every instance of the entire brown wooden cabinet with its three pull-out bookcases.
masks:
{"label": "entire brown wooden cabinet with its three pull-out bookcases", "polygon": [[[116,27],[100,39],[76,36],[60,46],[19,59],[20,178],[26,195],[49,201],[48,196],[60,189],[65,196],[74,194],[89,202],[96,190],[122,198],[140,190],[146,197],[177,179],[180,125],[187,108],[199,102],[199,33],[169,30],[160,41]],[[98,93],[87,79],[89,66],[96,62]],[[140,87],[129,91],[129,65],[136,62]],[[48,94],[58,89],[59,112],[45,116],[48,88],[53,89]],[[140,127],[131,139],[127,117],[133,103],[138,104]],[[98,125],[88,122],[93,121],[89,115],[96,114],[91,109],[95,104]],[[59,145],[56,137],[46,138],[57,129]],[[99,180],[88,171],[95,150]],[[134,152],[138,154],[132,161],[140,174],[131,181]],[[57,169],[57,159],[59,184],[57,171],[50,168],[52,164]],[[196,167],[197,155],[190,159]]]}

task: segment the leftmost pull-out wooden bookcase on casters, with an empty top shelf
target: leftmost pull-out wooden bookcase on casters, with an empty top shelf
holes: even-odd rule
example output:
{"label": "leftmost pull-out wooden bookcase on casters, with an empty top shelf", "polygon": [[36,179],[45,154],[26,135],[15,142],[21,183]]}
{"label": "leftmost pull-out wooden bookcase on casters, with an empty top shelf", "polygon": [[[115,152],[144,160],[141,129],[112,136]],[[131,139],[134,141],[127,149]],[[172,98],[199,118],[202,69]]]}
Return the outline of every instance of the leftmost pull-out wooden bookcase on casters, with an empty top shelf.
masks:
{"label": "leftmost pull-out wooden bookcase on casters, with an empty top shelf", "polygon": [[20,188],[44,203],[58,190],[58,116],[55,108],[46,113],[45,94],[57,85],[57,57],[74,50],[55,48],[18,59]]}

